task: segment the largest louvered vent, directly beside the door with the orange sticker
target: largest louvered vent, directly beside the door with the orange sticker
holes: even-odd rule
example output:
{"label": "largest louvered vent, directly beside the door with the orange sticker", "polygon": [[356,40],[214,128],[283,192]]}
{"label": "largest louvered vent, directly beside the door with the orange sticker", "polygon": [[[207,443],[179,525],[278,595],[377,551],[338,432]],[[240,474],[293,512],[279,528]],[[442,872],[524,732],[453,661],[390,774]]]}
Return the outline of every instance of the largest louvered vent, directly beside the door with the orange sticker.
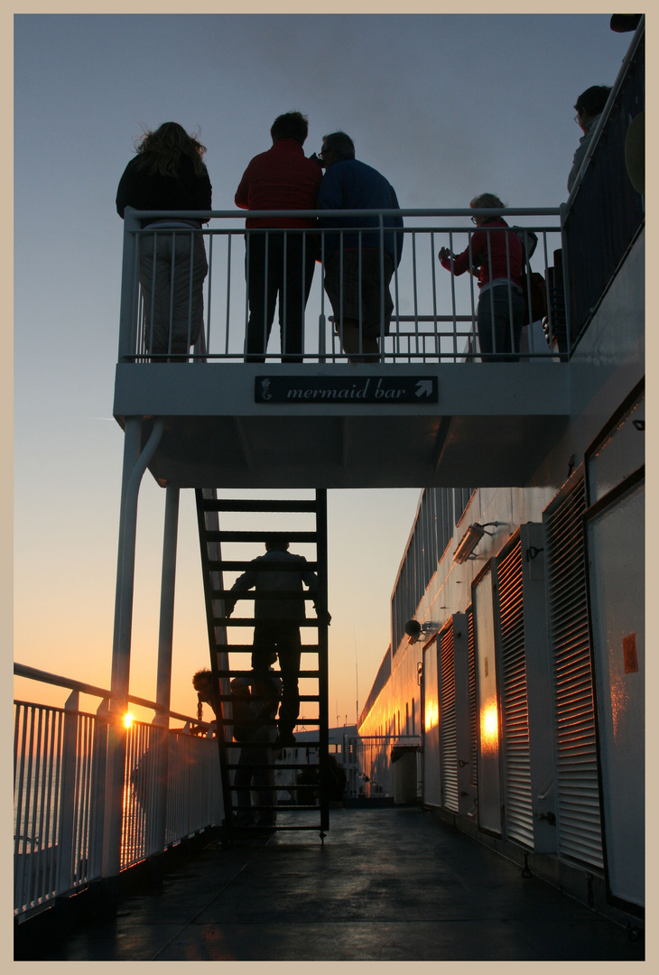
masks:
{"label": "largest louvered vent, directly beside the door with the orange sticker", "polygon": [[545,513],[554,657],[559,856],[603,869],[593,670],[579,480]]}

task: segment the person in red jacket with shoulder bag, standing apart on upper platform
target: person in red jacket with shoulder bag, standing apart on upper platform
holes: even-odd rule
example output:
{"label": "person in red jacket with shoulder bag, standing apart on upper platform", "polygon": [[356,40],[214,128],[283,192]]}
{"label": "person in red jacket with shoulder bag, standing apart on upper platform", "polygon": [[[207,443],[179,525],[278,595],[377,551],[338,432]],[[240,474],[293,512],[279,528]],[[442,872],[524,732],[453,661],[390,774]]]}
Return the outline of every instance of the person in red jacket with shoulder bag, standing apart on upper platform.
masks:
{"label": "person in red jacket with shoulder bag, standing apart on upper platform", "polygon": [[[472,210],[503,210],[493,193],[475,196]],[[472,216],[479,228],[462,254],[440,250],[442,267],[455,275],[471,270],[478,278],[477,325],[483,362],[518,362],[526,309],[522,290],[523,246],[502,216]],[[491,229],[490,229],[491,228]]]}

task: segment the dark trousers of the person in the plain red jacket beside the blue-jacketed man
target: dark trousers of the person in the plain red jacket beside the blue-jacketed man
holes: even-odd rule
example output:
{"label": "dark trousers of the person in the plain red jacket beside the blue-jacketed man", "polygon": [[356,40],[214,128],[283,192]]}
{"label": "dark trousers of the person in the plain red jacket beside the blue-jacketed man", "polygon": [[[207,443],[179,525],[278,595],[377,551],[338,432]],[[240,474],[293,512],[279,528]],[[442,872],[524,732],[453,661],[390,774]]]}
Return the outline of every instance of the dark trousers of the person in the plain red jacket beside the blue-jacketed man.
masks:
{"label": "dark trousers of the person in the plain red jacket beside the blue-jacketed man", "polygon": [[[267,255],[266,255],[267,254]],[[300,363],[304,309],[314,277],[316,243],[308,235],[248,234],[245,274],[250,298],[247,362],[264,362],[279,296],[282,362]]]}

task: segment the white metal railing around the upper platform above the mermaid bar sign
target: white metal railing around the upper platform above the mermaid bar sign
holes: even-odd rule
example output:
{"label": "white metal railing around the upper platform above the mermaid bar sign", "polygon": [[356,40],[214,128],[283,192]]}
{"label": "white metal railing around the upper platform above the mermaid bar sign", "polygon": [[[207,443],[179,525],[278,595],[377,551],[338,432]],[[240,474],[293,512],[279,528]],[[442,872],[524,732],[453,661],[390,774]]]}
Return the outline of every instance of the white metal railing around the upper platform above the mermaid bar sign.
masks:
{"label": "white metal railing around the upper platform above the mermaid bar sign", "polygon": [[[308,218],[316,224],[320,213],[253,211],[250,218]],[[400,234],[404,239],[404,246],[400,265],[394,268],[391,278],[394,310],[388,326],[384,311],[383,281],[386,279],[382,269],[385,237],[387,233],[393,236],[387,221],[395,214],[405,221],[404,229],[396,231],[396,236]],[[345,230],[318,224],[310,228],[264,230],[252,227],[246,230],[244,212],[241,215],[236,211],[138,212],[127,208],[120,362],[272,361],[282,358],[283,345],[284,361],[345,362],[342,313],[335,320],[324,287],[329,266],[326,255],[335,248],[337,241],[338,252],[334,255],[347,253],[347,243],[345,252],[340,243],[347,235],[353,244],[358,241],[358,253],[366,254],[368,243],[372,244],[373,224],[379,228],[375,233],[379,232],[380,237],[380,277],[377,282],[381,292],[377,336],[380,359],[392,363],[479,361],[476,279],[469,273],[454,277],[438,259],[438,252],[445,245],[454,253],[467,248],[477,232],[471,217],[478,214],[503,214],[510,225],[523,222],[520,229],[532,231],[538,238],[530,269],[545,280],[549,278],[554,254],[562,253],[559,208],[510,208],[505,213],[478,210],[332,211],[333,221],[345,218],[351,222]],[[201,230],[189,225],[185,227],[180,225],[184,219],[206,221],[208,225]],[[364,220],[364,225],[356,227],[355,223],[360,220]],[[176,221],[179,221],[177,226],[174,225]],[[492,237],[497,232],[500,231],[494,228],[490,231]],[[370,235],[369,240],[366,235]],[[315,273],[308,299],[305,300],[301,290],[294,301],[285,295],[280,303],[278,320],[272,326],[269,344],[262,341],[254,355],[253,350],[250,354],[248,349],[247,336],[251,318],[250,283],[252,281],[253,287],[256,274],[255,265],[250,260],[250,242],[256,238],[265,241],[266,250],[274,249],[275,245],[283,249],[285,263],[286,255],[292,254],[295,248],[298,256],[294,259],[301,261],[301,276],[304,276],[309,260],[314,261]],[[300,238],[304,241],[301,248],[297,244]],[[162,258],[160,262],[159,256]],[[361,261],[362,257],[359,259]],[[335,287],[342,292],[342,306],[343,292],[349,285],[343,272],[342,257],[339,264]],[[208,273],[204,276],[206,267]],[[259,277],[259,287],[264,292],[262,305],[269,289],[267,272]],[[354,287],[360,288],[361,300],[364,282]],[[530,282],[526,283],[526,289],[525,296],[530,302]],[[509,301],[510,291],[509,288]],[[274,309],[272,295],[268,300]],[[303,342],[301,349],[295,346],[291,351],[293,320],[299,317],[303,323]],[[252,325],[252,334],[253,329]],[[552,358],[556,351],[555,331],[550,307],[544,333],[539,325],[526,330],[520,350],[523,358]],[[192,351],[188,354],[191,346]],[[363,351],[362,347],[359,351]]]}

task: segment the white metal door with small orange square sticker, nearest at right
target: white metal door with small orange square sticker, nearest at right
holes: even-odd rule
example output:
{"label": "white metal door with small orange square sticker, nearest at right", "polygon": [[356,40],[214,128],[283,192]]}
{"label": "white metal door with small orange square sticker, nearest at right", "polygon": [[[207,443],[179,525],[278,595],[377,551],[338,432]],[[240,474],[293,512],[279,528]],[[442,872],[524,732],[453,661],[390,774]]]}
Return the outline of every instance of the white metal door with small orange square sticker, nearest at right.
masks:
{"label": "white metal door with small orange square sticker, nearest at right", "polygon": [[644,478],[588,515],[606,878],[644,903]]}

